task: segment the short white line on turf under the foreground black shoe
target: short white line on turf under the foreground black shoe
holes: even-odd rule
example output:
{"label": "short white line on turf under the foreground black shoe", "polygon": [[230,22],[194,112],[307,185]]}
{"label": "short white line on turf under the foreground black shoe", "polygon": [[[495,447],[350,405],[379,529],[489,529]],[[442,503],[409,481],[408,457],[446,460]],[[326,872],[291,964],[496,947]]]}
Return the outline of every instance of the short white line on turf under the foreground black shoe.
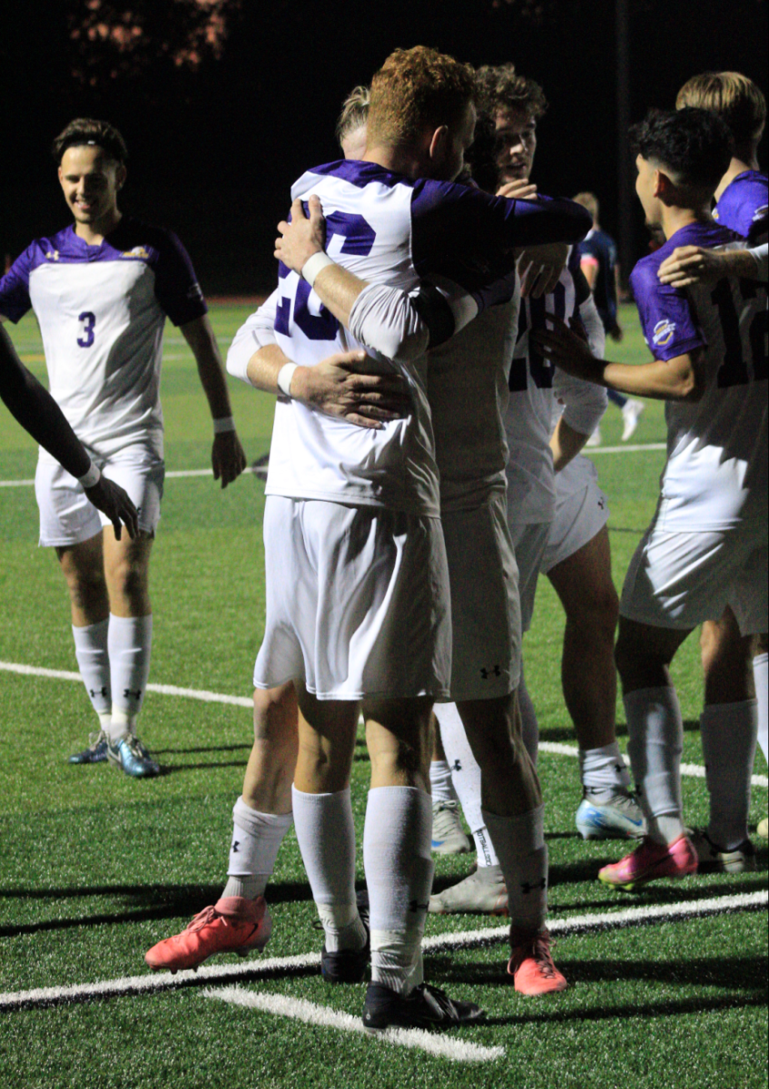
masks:
{"label": "short white line on turf under the foreground black shoe", "polygon": [[304,1021],[305,1025],[320,1025],[322,1028],[337,1028],[343,1032],[357,1032],[400,1048],[418,1048],[420,1051],[449,1059],[454,1063],[485,1063],[504,1059],[504,1048],[483,1048],[477,1043],[434,1036],[416,1028],[389,1028],[384,1032],[369,1033],[363,1027],[359,1017],[340,1014],[335,1010],[318,1006],[305,999],[290,999],[283,994],[260,994],[258,991],[246,991],[242,987],[207,990],[203,992],[203,996],[219,999],[220,1002],[229,1002],[235,1006],[260,1010],[267,1014],[277,1014],[279,1017],[292,1017],[294,1020]]}

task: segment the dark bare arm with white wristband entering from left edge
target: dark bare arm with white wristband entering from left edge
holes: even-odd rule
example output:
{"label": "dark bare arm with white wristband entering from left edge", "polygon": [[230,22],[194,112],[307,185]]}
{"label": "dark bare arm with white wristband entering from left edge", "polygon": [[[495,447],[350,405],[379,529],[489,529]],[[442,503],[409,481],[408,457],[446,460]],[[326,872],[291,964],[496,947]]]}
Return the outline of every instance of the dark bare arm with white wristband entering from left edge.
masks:
{"label": "dark bare arm with white wristband entering from left edge", "polygon": [[[5,320],[3,315],[0,320]],[[59,405],[16,355],[4,329],[0,329],[0,400],[24,430],[80,480],[94,506],[114,526],[118,540],[121,524],[134,538],[138,533],[136,507],[123,489],[91,463]]]}

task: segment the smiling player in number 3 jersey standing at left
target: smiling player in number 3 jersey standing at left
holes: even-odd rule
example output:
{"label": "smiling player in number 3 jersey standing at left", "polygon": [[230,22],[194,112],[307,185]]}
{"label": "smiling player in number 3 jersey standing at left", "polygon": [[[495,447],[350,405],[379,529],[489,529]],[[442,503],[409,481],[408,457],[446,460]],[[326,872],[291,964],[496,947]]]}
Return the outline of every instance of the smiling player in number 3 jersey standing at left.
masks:
{"label": "smiling player in number 3 jersey standing at left", "polygon": [[181,327],[213,417],[215,478],[225,487],[245,456],[235,435],[221,360],[190,258],[168,231],[123,216],[126,148],[105,121],[77,119],[53,155],[74,223],[38,238],[0,281],[0,316],[32,307],[51,394],[94,462],[139,512],[134,539],[119,539],[84,490],[44,450],[35,489],[40,544],[56,549],[70,590],[81,675],[100,730],[74,763],[109,759],[126,774],[156,775],[136,736],[149,673],[149,559],[163,482],[159,400],[162,328]]}

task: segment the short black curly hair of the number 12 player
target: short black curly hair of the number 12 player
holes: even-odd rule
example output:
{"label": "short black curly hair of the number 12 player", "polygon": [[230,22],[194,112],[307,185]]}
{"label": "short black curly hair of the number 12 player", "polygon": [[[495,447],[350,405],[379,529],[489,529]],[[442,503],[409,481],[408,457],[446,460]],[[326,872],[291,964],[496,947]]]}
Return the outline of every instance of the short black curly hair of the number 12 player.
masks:
{"label": "short black curly hair of the number 12 player", "polygon": [[631,137],[643,159],[667,167],[674,181],[715,189],[729,170],[734,140],[729,126],[710,110],[649,110],[633,125]]}

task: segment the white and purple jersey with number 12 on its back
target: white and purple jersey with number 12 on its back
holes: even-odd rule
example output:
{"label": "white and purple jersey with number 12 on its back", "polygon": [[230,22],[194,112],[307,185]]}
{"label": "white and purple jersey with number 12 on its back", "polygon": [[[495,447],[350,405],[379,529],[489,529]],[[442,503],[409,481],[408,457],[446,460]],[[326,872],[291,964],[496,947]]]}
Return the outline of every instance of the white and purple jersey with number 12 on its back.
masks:
{"label": "white and purple jersey with number 12 on its back", "polygon": [[657,277],[676,246],[747,246],[734,238],[716,223],[693,223],[638,261],[631,276],[655,358],[705,350],[700,400],[666,405],[659,529],[707,533],[767,518],[766,285],[724,279],[683,291]]}

